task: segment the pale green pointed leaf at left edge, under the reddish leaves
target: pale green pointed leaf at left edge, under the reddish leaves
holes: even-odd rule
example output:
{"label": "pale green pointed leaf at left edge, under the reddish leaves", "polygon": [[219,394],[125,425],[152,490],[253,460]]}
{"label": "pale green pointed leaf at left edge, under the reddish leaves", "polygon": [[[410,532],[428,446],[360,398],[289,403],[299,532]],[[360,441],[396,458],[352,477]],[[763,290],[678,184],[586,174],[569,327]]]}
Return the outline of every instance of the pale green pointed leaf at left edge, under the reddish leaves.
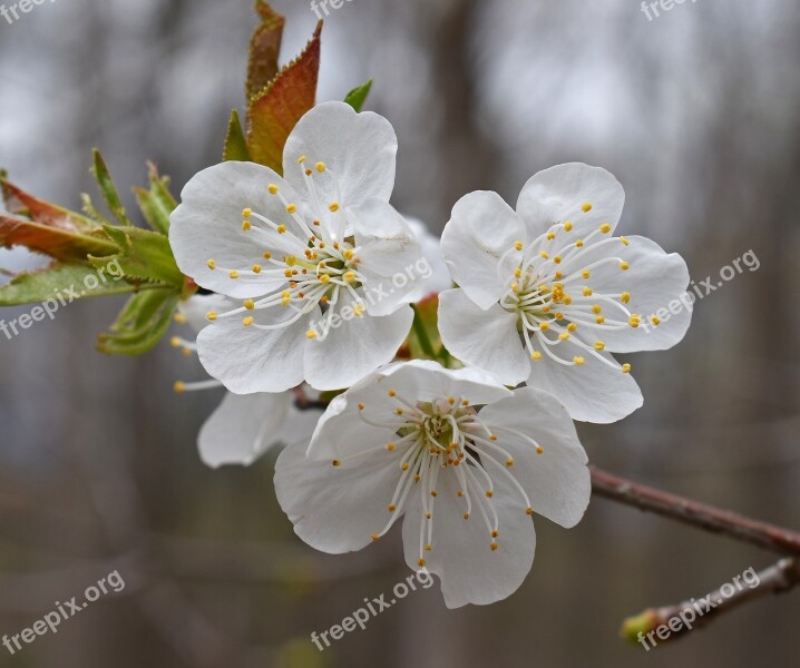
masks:
{"label": "pale green pointed leaf at left edge, under the reddish leaves", "polygon": [[[88,276],[92,276],[94,281],[87,284]],[[48,299],[60,306],[62,304],[59,304],[58,295],[62,299],[71,302],[84,297],[121,295],[136,289],[135,285],[117,278],[109,272],[99,274],[97,269],[88,265],[57,263],[38,272],[20,274],[11,283],[1,286],[0,306],[38,304]]]}

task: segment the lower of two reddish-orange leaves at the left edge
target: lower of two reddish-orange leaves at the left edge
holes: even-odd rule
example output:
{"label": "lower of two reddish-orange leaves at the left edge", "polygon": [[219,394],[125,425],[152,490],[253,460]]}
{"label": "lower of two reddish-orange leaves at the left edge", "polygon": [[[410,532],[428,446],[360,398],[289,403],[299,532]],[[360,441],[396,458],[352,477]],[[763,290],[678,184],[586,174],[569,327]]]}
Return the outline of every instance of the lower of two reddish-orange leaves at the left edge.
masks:
{"label": "lower of two reddish-orange leaves at the left edge", "polygon": [[100,236],[68,232],[0,214],[0,246],[25,246],[62,262],[86,262],[87,255],[110,255],[116,244]]}

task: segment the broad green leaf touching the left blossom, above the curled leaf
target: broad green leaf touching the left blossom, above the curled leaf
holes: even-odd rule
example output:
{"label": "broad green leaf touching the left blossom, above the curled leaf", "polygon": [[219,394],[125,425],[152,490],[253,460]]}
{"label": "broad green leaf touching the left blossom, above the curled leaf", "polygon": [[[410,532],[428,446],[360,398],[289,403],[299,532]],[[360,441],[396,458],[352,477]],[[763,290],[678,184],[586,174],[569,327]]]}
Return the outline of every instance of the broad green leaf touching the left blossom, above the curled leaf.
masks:
{"label": "broad green leaf touching the left blossom, above the curled leaf", "polygon": [[95,267],[117,261],[127,278],[166,284],[178,292],[183,289],[184,275],[175,264],[167,237],[139,227],[106,226],[105,229],[120,252],[110,257],[90,257]]}

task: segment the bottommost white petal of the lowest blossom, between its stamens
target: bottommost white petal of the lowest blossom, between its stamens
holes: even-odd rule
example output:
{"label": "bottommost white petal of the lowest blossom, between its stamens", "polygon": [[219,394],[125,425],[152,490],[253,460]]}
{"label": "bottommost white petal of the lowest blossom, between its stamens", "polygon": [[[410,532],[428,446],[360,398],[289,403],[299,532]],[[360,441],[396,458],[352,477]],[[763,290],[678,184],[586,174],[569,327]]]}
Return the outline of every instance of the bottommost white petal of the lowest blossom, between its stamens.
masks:
{"label": "bottommost white petal of the lowest blossom, between its stamens", "polygon": [[[505,478],[498,478],[491,502],[499,517],[500,534],[498,548],[492,551],[489,530],[477,508],[469,520],[464,519],[466,504],[457,497],[458,491],[455,475],[439,475],[433,543],[432,550],[425,552],[426,568],[439,576],[448,608],[494,603],[514,593],[530,571],[536,551],[534,523],[516,489]],[[422,521],[429,520],[423,517],[420,494],[414,493],[403,520],[406,562],[414,570],[419,569]]]}

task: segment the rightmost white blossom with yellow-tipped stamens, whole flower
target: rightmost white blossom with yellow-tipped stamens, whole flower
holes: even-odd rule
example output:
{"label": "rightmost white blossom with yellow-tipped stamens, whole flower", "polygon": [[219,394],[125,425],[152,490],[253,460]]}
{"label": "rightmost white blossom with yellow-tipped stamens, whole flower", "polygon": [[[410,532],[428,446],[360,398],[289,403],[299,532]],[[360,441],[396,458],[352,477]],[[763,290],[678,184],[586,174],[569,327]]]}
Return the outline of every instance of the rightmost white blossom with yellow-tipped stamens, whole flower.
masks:
{"label": "rightmost white blossom with yellow-tipped stamens, whole flower", "polygon": [[535,175],[516,212],[496,193],[461,198],[442,234],[459,286],[439,295],[448,350],[506,385],[545,390],[575,420],[638,409],[631,364],[611,353],[683,338],[691,312],[657,313],[685,293],[689,271],[645,237],[614,235],[624,202],[609,173],[577,163]]}

